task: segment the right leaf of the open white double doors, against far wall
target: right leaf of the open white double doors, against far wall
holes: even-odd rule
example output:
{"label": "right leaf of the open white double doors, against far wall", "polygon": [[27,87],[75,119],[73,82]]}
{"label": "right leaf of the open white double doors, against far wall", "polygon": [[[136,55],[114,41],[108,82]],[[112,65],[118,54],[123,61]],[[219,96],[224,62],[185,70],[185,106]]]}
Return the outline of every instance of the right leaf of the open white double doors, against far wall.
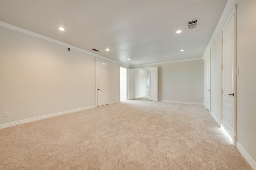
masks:
{"label": "right leaf of the open white double doors, against far wall", "polygon": [[149,100],[152,100],[152,101],[158,101],[157,71],[158,71],[158,67],[149,68]]}

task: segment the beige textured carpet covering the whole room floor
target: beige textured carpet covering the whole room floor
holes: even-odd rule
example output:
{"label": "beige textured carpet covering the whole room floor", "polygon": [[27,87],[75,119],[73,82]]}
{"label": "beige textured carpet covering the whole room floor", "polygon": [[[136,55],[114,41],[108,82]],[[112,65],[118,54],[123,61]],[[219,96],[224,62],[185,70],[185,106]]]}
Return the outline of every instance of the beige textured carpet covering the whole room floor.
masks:
{"label": "beige textured carpet covering the whole room floor", "polygon": [[140,98],[0,130],[1,170],[250,170],[204,106]]}

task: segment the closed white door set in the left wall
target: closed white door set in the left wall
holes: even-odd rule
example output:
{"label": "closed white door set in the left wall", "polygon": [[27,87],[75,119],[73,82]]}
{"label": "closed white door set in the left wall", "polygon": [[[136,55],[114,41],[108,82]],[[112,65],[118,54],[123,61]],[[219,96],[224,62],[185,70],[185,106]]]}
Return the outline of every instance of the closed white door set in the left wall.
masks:
{"label": "closed white door set in the left wall", "polygon": [[97,106],[108,104],[108,63],[97,61]]}

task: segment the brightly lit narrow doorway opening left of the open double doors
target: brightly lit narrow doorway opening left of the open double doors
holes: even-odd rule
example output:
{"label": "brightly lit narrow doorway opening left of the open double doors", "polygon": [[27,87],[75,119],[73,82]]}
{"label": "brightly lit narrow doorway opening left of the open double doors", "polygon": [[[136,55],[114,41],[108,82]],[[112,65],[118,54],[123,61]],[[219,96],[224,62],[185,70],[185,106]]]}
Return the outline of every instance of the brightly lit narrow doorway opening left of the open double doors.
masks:
{"label": "brightly lit narrow doorway opening left of the open double doors", "polygon": [[127,100],[127,68],[120,67],[120,102]]}

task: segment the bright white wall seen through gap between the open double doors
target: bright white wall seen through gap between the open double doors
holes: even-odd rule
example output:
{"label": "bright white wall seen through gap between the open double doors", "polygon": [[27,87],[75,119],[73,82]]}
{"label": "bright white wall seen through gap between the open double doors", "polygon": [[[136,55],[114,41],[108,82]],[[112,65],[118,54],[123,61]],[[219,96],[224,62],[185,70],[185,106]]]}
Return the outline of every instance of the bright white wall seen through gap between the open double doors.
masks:
{"label": "bright white wall seen through gap between the open double doors", "polygon": [[135,70],[135,98],[147,96],[147,73],[145,70]]}

